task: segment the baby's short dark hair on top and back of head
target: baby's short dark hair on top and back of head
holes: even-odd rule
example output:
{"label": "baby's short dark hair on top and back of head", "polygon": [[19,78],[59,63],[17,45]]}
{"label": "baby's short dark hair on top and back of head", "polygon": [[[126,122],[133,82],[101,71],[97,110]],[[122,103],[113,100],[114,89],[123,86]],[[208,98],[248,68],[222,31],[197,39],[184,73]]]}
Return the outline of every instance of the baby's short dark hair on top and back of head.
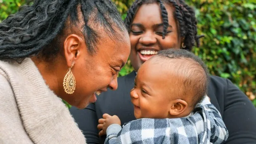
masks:
{"label": "baby's short dark hair on top and back of head", "polygon": [[193,106],[201,102],[207,94],[209,71],[199,57],[185,49],[167,49],[159,51],[154,58],[160,58],[157,60],[158,62],[161,59],[178,60],[178,62],[172,63],[171,67],[175,69],[177,74],[182,74],[184,78],[178,81],[178,88],[176,87],[175,91],[180,89],[181,95],[193,93]]}

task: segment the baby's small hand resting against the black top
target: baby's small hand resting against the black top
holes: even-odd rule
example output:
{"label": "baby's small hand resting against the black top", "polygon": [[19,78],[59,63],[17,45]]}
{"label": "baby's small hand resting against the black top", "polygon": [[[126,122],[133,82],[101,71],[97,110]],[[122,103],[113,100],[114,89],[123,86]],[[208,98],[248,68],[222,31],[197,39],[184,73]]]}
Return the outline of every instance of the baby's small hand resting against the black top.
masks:
{"label": "baby's small hand resting against the black top", "polygon": [[99,124],[97,128],[100,130],[99,135],[106,135],[107,128],[111,124],[119,124],[121,125],[121,121],[118,116],[110,116],[109,114],[103,114],[103,118],[99,119]]}

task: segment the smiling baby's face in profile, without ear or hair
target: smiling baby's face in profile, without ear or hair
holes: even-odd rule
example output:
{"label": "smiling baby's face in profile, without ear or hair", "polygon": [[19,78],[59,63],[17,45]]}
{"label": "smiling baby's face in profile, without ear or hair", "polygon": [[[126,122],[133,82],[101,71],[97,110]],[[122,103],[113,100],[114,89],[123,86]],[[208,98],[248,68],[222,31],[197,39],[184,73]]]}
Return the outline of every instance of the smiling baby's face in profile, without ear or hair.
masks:
{"label": "smiling baby's face in profile, without ear or hair", "polygon": [[130,91],[136,118],[168,118],[172,96],[168,68],[144,63],[137,72],[135,86]]}

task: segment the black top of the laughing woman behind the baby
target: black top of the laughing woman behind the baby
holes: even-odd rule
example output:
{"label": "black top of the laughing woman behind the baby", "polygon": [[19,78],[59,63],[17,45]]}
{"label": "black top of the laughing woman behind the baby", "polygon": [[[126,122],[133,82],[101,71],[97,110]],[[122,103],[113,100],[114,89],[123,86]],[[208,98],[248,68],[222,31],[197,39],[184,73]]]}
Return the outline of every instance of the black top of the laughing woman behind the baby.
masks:
{"label": "black top of the laughing woman behind the baby", "polygon": [[[121,125],[135,120],[130,90],[135,72],[118,78],[116,91],[107,91],[97,96],[97,102],[85,109],[71,107],[70,111],[86,137],[88,144],[103,144],[106,136],[98,136],[97,124],[104,113],[117,115]],[[251,101],[228,79],[211,76],[208,96],[220,111],[228,128],[226,144],[256,144],[256,109]]]}

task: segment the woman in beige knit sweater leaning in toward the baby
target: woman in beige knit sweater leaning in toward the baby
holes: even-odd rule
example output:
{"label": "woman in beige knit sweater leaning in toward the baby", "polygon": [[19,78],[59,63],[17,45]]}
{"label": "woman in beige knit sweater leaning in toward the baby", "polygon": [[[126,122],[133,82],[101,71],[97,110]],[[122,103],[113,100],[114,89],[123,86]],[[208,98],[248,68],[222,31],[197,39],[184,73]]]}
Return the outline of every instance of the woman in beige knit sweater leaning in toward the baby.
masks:
{"label": "woman in beige knit sweater leaning in toward the baby", "polygon": [[130,40],[111,0],[34,0],[0,23],[0,143],[85,144],[60,98],[116,90]]}

